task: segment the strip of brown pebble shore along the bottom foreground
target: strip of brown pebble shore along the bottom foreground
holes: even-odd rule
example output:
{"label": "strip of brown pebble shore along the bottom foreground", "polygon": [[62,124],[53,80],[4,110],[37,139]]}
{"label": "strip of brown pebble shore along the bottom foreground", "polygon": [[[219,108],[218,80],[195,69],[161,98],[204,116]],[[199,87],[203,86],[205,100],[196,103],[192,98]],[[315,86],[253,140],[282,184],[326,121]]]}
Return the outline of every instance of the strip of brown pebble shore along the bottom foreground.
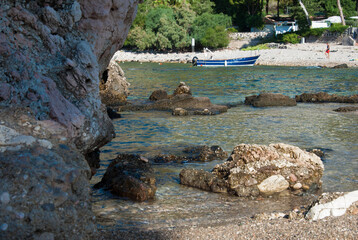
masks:
{"label": "strip of brown pebble shore along the bottom foreground", "polygon": [[319,221],[239,220],[225,226],[188,227],[154,231],[100,230],[98,239],[358,239],[358,215]]}

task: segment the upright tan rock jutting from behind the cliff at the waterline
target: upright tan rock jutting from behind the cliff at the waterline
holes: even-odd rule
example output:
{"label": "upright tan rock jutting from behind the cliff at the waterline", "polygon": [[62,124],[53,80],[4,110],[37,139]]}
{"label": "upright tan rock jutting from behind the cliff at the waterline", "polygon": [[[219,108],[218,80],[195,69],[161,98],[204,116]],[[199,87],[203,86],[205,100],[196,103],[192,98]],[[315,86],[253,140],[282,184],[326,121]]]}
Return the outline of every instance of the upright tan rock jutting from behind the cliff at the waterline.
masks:
{"label": "upright tan rock jutting from behind the cliff at the waterline", "polygon": [[128,87],[129,83],[126,81],[119,62],[112,60],[101,79],[100,95],[102,103],[107,106],[124,104],[129,95]]}

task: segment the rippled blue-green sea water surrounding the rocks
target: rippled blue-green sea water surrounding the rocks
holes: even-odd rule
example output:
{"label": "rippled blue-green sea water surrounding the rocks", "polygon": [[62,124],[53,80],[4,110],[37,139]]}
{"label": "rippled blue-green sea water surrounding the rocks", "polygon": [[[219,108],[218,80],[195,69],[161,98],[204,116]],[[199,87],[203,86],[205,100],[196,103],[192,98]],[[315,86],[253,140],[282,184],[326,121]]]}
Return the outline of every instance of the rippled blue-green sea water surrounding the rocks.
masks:
{"label": "rippled blue-green sea water surrounding the rocks", "polygon": [[[129,100],[147,99],[156,89],[168,93],[184,81],[194,96],[216,104],[242,103],[260,92],[294,97],[304,92],[358,94],[358,69],[307,67],[194,68],[188,64],[123,63],[131,84]],[[174,117],[170,112],[124,112],[115,120],[117,137],[102,148],[99,181],[117,153],[152,156],[171,153],[186,145],[219,145],[230,153],[240,143],[283,142],[325,152],[324,191],[358,189],[358,113],[336,113],[349,104],[298,104],[296,107],[253,108],[239,104],[216,116]],[[305,203],[289,200],[250,201],[181,186],[184,167],[210,170],[220,161],[190,164],[157,164],[156,199],[133,203],[103,191],[94,192],[94,211],[103,222],[122,229],[161,228],[214,224],[262,211],[287,210]],[[306,196],[309,198],[310,196]]]}

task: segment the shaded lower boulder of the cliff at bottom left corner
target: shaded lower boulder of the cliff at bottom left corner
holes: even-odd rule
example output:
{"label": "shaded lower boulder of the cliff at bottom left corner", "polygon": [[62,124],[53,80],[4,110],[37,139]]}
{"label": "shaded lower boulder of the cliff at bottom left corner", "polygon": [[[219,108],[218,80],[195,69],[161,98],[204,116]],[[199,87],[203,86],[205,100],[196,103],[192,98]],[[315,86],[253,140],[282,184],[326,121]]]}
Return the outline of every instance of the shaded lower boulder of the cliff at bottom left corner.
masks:
{"label": "shaded lower boulder of the cliff at bottom left corner", "polygon": [[84,156],[61,125],[48,131],[21,112],[0,110],[0,238],[87,238],[96,225]]}

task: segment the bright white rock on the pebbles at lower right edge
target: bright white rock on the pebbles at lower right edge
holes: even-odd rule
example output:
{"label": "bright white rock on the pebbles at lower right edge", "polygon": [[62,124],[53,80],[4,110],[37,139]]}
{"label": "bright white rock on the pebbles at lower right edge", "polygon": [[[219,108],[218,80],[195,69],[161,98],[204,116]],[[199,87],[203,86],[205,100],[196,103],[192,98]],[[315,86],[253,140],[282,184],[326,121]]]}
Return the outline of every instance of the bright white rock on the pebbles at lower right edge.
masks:
{"label": "bright white rock on the pebbles at lower right edge", "polygon": [[324,193],[315,201],[306,219],[320,220],[325,217],[338,217],[344,215],[351,206],[356,208],[358,203],[358,191],[349,193]]}

